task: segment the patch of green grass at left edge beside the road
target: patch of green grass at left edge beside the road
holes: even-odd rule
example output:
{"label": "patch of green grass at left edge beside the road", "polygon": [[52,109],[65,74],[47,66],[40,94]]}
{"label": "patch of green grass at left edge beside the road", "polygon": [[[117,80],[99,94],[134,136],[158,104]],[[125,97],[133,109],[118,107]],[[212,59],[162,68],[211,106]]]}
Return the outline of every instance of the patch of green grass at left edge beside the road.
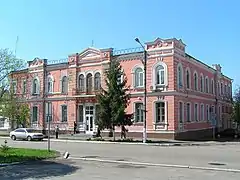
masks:
{"label": "patch of green grass at left edge beside the road", "polygon": [[40,149],[10,148],[8,150],[0,149],[0,164],[22,162],[31,160],[42,160],[57,157],[56,151]]}

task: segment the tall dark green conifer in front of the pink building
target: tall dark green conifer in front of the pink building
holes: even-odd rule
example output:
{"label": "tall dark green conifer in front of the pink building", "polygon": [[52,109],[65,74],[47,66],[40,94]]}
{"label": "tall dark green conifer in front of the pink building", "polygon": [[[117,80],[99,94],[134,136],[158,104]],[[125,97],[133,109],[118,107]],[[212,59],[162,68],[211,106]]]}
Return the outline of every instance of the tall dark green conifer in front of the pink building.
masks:
{"label": "tall dark green conifer in front of the pink building", "polygon": [[97,125],[101,130],[110,129],[115,140],[116,126],[131,125],[130,116],[125,113],[129,103],[129,87],[126,86],[127,78],[119,61],[111,61],[105,75],[106,89],[98,95],[100,112]]}

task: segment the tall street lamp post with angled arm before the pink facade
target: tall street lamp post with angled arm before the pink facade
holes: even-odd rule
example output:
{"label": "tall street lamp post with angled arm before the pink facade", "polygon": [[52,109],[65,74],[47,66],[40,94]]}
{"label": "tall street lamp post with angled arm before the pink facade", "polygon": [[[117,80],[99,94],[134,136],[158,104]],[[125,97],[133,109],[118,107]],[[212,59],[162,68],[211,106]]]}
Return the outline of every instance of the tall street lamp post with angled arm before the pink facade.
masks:
{"label": "tall street lamp post with angled arm before the pink facade", "polygon": [[144,55],[144,59],[142,60],[143,63],[143,71],[144,71],[144,102],[143,102],[143,106],[144,106],[144,120],[143,120],[143,143],[146,143],[147,140],[147,51],[145,49],[145,47],[142,45],[142,43],[140,42],[140,40],[138,38],[135,38],[135,41],[137,43],[139,43],[142,48],[144,49],[143,51],[143,55]]}

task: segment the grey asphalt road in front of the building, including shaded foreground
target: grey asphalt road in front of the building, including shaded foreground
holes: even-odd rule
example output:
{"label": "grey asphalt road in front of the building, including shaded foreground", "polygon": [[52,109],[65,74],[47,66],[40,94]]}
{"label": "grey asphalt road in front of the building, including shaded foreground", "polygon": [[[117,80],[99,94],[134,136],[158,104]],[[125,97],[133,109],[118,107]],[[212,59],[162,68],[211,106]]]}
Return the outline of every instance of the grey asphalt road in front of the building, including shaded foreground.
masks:
{"label": "grey asphalt road in front of the building, including shaded foreground", "polygon": [[[46,141],[8,140],[8,145],[47,148]],[[62,141],[52,142],[51,148],[61,153],[68,151],[70,158],[3,167],[0,168],[1,180],[237,180],[240,176],[240,145],[160,147]]]}

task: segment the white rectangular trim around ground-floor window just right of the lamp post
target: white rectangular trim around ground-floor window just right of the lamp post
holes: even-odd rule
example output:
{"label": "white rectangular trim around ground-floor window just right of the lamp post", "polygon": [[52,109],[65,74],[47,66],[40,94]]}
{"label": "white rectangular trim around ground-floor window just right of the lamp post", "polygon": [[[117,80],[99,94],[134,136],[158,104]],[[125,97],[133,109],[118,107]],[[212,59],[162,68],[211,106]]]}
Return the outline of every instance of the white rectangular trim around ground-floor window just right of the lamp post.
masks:
{"label": "white rectangular trim around ground-floor window just right of the lamp post", "polygon": [[153,101],[153,104],[152,104],[152,107],[153,107],[153,116],[152,117],[154,117],[153,118],[153,125],[154,125],[154,130],[156,130],[156,125],[157,124],[159,124],[159,123],[157,123],[156,122],[156,103],[159,103],[159,102],[162,102],[162,103],[164,103],[164,112],[165,112],[165,114],[164,114],[164,118],[165,118],[165,121],[163,122],[165,125],[164,125],[164,128],[162,128],[162,129],[157,129],[157,130],[159,130],[159,131],[162,131],[162,130],[167,130],[168,129],[168,105],[167,105],[167,101],[165,101],[165,100],[156,100],[156,101]]}

